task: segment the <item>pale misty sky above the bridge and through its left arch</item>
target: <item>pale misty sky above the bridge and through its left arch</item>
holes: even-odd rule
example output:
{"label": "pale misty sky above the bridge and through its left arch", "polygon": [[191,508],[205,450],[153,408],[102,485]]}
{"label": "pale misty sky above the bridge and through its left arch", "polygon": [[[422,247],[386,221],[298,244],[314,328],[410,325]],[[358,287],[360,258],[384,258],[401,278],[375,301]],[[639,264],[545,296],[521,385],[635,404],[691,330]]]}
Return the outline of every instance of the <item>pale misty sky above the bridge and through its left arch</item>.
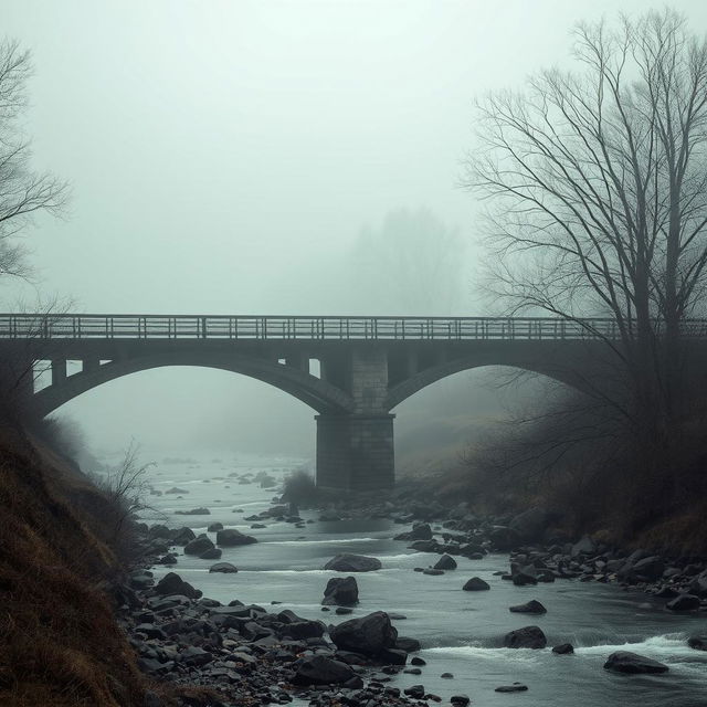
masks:
{"label": "pale misty sky above the bridge and through its left arch", "polygon": [[[707,2],[671,6],[707,30]],[[454,312],[484,314],[456,187],[474,97],[566,62],[576,21],[647,7],[0,0],[2,34],[33,54],[34,163],[73,186],[66,220],[27,231],[38,287],[78,312],[380,314],[348,256],[365,226],[424,208],[465,244]],[[7,309],[33,296],[2,291]],[[314,434],[298,401],[217,371],[139,373],[65,411],[109,446]]]}

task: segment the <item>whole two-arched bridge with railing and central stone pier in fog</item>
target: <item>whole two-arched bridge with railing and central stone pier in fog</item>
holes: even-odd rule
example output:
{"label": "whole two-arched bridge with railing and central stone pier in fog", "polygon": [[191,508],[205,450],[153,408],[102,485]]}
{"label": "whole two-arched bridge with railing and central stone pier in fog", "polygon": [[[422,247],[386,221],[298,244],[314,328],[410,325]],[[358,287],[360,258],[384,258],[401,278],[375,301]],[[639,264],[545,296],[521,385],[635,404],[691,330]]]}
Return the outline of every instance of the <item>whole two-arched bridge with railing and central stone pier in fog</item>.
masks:
{"label": "whole two-arched bridge with railing and central stone pier in fog", "polygon": [[[707,339],[707,320],[685,327]],[[50,384],[25,391],[36,414],[152,368],[242,373],[315,410],[317,485],[351,490],[392,486],[391,410],[419,390],[481,366],[587,390],[618,338],[614,321],[598,318],[0,315],[0,358],[51,370]],[[80,370],[68,374],[68,361]]]}

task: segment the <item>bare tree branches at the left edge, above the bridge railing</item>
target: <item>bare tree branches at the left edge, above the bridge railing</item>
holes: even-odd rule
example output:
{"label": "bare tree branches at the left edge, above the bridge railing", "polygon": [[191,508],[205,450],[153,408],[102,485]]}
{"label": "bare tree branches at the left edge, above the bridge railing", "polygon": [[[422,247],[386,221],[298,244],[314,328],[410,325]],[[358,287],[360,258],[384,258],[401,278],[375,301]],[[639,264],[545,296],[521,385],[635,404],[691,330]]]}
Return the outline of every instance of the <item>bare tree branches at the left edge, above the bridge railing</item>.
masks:
{"label": "bare tree branches at the left edge, above the bridge railing", "polygon": [[59,215],[68,188],[51,172],[34,171],[19,118],[27,109],[31,56],[18,42],[0,42],[0,275],[28,277],[27,249],[17,236],[41,212]]}

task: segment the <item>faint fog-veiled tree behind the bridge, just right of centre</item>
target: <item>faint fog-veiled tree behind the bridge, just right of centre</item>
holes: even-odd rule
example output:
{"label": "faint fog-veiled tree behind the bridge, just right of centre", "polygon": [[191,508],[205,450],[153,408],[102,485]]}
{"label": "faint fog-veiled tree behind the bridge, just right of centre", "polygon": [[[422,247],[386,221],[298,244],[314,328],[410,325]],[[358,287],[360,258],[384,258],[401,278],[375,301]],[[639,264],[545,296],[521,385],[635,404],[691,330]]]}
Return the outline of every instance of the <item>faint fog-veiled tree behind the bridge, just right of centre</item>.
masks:
{"label": "faint fog-veiled tree behind the bridge, just right of centre", "polygon": [[463,251],[458,231],[432,211],[391,211],[354,245],[354,294],[380,314],[449,315],[462,300]]}

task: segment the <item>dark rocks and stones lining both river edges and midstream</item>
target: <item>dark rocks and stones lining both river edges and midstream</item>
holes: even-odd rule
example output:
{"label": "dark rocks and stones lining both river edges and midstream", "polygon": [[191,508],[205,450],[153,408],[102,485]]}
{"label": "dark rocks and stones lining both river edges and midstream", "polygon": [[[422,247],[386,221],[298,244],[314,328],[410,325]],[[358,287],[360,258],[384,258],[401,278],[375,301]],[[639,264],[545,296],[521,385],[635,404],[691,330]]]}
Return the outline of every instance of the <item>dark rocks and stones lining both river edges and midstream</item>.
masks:
{"label": "dark rocks and stones lining both river edges and midstream", "polygon": [[[556,529],[557,518],[539,508],[514,517],[479,518],[465,504],[452,508],[422,502],[418,493],[397,489],[388,498],[380,494],[355,496],[329,503],[319,519],[334,521],[351,518],[389,518],[409,529],[395,536],[407,547],[440,555],[426,574],[440,574],[456,568],[455,556],[483,559],[489,552],[508,552],[509,570],[502,579],[518,585],[560,580],[615,582],[625,589],[643,590],[666,600],[666,611],[707,611],[707,562],[700,558],[664,557],[648,549],[633,551],[611,548],[590,537],[571,541]],[[304,521],[296,508],[282,504],[249,518],[254,525],[268,520],[287,520],[293,527]],[[189,528],[141,527],[148,562],[172,564],[175,546],[184,552],[219,559],[218,545],[256,541],[238,530],[222,527],[215,531],[214,545],[203,535],[196,537]],[[204,555],[205,553],[205,555]],[[224,567],[220,567],[224,566]],[[228,563],[217,563],[212,571],[236,571]],[[345,573],[376,571],[376,558],[342,556],[327,563],[327,569]],[[323,611],[336,606],[337,614],[350,613],[358,600],[355,577],[333,578],[324,589]],[[490,587],[473,577],[466,591],[485,591]],[[294,699],[313,707],[384,707],[440,703],[423,685],[405,690],[390,685],[401,671],[421,674],[424,661],[414,654],[420,644],[398,635],[394,615],[373,612],[334,626],[310,621],[294,612],[243,604],[228,605],[204,598],[201,592],[170,572],[155,583],[149,570],[133,572],[118,591],[119,622],[138,654],[139,667],[158,682],[200,686],[211,690],[202,697],[182,698],[182,704],[213,707],[287,704]],[[510,606],[521,614],[542,614],[538,601]],[[513,648],[544,648],[545,634],[538,626],[523,626],[503,639]],[[707,650],[707,636],[690,636],[688,645]],[[553,646],[568,654],[573,646]],[[606,669],[621,673],[657,673],[667,666],[629,652],[608,656]],[[500,685],[498,692],[525,692],[521,684]],[[469,704],[466,695],[453,696],[455,707]],[[157,693],[150,693],[146,707],[160,707]]]}

